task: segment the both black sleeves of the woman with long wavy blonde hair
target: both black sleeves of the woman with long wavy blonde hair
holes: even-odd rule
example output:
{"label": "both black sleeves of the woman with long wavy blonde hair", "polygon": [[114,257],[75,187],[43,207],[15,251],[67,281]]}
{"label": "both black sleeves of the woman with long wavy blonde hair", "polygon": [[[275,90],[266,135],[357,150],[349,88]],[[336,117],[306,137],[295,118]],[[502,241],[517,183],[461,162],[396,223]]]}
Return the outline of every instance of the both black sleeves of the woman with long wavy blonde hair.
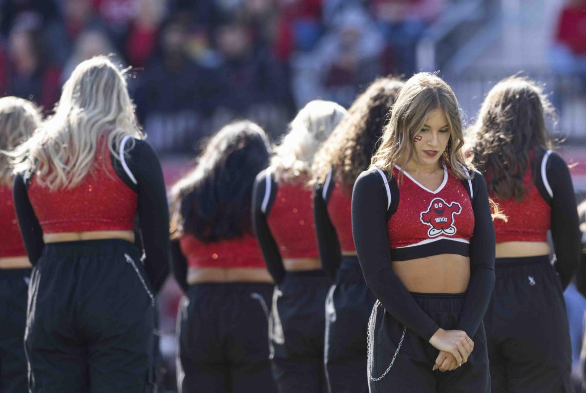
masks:
{"label": "both black sleeves of the woman with long wavy blonde hair", "polygon": [[[169,211],[163,172],[155,151],[146,141],[135,140],[134,147],[127,153],[125,162],[136,184],[114,157],[113,167],[122,181],[137,192],[138,225],[145,256],[143,263],[153,289],[158,292],[169,272]],[[22,174],[14,178],[13,196],[26,252],[35,265],[45,243],[42,228],[30,204],[28,179]]]}

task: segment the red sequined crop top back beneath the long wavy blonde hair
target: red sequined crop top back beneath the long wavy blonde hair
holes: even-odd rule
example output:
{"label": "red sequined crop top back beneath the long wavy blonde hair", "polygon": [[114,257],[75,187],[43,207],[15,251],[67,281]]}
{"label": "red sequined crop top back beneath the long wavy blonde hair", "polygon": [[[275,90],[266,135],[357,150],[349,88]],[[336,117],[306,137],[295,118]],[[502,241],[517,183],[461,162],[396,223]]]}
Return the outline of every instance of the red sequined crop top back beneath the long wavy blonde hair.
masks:
{"label": "red sequined crop top back beneath the long wavy blonde hair", "polygon": [[76,187],[52,192],[33,175],[28,195],[43,233],[134,230],[137,193],[115,172],[104,140],[98,143],[93,174]]}

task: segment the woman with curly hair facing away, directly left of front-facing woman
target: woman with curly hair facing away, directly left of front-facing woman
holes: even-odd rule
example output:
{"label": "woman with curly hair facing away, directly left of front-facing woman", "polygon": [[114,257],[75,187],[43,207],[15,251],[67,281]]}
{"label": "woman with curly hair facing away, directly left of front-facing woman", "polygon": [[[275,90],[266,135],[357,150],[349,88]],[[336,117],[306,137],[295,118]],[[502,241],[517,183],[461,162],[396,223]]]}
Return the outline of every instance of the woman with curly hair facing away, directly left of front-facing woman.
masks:
{"label": "woman with curly hair facing away, directly left of front-facing woman", "polygon": [[332,393],[368,392],[366,332],[374,295],[364,283],[352,238],[352,187],[370,165],[403,82],[380,78],[315,155],[314,219],[322,268],[334,282],[326,299],[326,379]]}

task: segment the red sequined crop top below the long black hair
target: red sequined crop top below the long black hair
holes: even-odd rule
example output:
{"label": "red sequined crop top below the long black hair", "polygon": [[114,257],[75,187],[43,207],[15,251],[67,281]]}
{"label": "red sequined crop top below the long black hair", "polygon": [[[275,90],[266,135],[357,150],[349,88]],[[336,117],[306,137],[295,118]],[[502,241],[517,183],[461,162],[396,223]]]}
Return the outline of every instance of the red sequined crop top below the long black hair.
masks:
{"label": "red sequined crop top below the long black hair", "polygon": [[189,267],[265,267],[263,253],[251,235],[213,243],[183,235],[179,245]]}

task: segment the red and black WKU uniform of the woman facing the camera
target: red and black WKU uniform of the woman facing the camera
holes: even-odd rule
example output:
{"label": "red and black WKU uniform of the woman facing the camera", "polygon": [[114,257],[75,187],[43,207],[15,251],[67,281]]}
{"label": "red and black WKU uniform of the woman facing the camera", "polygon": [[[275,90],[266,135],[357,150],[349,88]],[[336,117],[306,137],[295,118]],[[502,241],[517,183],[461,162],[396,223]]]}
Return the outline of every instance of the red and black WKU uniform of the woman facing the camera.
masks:
{"label": "red and black WKU uniform of the woman facing the camera", "polygon": [[[430,190],[407,172],[398,179],[398,172],[364,171],[352,194],[356,251],[378,299],[369,321],[370,391],[489,392],[482,317],[495,280],[495,235],[482,175],[459,180],[444,170],[440,187]],[[465,293],[410,293],[391,269],[391,260],[441,254],[470,259]],[[429,340],[440,327],[463,330],[475,344],[454,371],[432,371],[438,350]]]}

